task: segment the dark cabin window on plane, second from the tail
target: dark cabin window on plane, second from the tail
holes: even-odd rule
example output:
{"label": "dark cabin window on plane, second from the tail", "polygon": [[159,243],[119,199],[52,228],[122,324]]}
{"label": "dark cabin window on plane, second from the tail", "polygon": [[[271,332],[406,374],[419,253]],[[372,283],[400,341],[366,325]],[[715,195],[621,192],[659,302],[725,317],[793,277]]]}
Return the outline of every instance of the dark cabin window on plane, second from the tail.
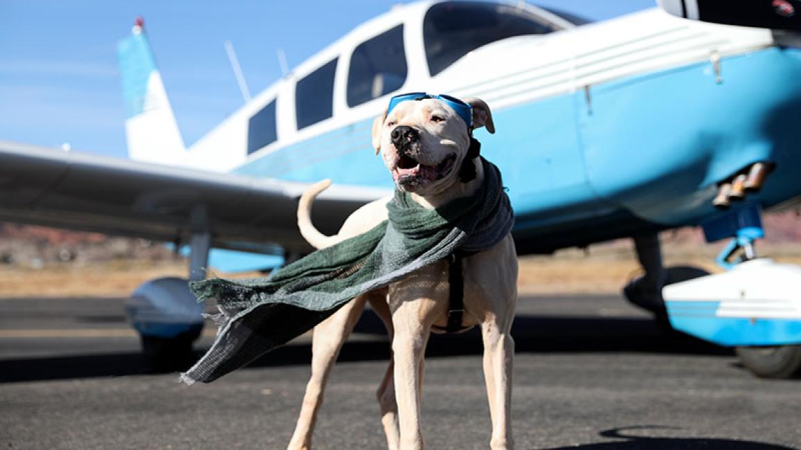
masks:
{"label": "dark cabin window on plane, second from the tail", "polygon": [[334,73],[337,60],[338,58],[334,58],[297,82],[295,113],[298,130],[333,115]]}

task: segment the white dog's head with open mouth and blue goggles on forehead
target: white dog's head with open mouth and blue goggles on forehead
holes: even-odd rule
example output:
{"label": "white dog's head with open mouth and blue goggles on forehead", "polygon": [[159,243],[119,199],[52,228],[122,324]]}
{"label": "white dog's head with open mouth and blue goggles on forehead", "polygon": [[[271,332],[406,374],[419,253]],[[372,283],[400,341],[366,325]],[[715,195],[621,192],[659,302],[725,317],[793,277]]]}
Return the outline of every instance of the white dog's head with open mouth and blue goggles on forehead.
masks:
{"label": "white dog's head with open mouth and blue goggles on forehead", "polygon": [[[472,129],[486,127],[495,132],[489,106],[478,98],[465,102],[469,110],[447,99],[425,96],[397,102],[388,114],[384,111],[376,118],[372,145],[398,189],[425,197],[460,182],[462,163],[477,157],[468,155]],[[472,116],[472,123],[465,123],[465,116]]]}

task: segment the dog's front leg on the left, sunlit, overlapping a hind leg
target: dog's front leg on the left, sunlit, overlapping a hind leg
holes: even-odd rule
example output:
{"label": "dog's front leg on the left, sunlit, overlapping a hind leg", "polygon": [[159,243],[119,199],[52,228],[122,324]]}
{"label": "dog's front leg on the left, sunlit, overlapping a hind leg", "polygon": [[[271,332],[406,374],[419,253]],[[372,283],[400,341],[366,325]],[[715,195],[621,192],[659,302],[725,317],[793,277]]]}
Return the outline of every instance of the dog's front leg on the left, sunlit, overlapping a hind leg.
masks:
{"label": "dog's front leg on the left, sunlit, overlapping a hind leg", "polygon": [[400,448],[423,448],[420,422],[421,382],[425,345],[429,340],[430,324],[421,323],[417,301],[402,302],[392,311],[395,336],[392,339],[395,397],[400,428]]}

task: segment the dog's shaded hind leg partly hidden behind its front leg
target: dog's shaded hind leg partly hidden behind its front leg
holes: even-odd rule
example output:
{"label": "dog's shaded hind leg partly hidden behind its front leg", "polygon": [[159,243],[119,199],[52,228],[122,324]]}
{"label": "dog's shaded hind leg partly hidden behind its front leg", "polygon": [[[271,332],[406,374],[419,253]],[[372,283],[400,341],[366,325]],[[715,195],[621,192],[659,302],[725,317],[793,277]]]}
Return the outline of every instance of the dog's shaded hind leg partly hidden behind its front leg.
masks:
{"label": "dog's shaded hind leg partly hidden behind its front leg", "polygon": [[[392,328],[392,313],[389,311],[387,304],[386,292],[383,295],[371,295],[370,305],[373,311],[376,311],[384,326],[387,327],[389,335],[389,342],[395,333]],[[376,391],[376,398],[381,410],[381,424],[384,426],[384,434],[387,436],[387,448],[389,450],[397,450],[400,448],[400,432],[398,431],[398,404],[395,400],[395,380],[392,373],[395,370],[394,358],[390,356],[387,372],[384,373],[384,378]]]}

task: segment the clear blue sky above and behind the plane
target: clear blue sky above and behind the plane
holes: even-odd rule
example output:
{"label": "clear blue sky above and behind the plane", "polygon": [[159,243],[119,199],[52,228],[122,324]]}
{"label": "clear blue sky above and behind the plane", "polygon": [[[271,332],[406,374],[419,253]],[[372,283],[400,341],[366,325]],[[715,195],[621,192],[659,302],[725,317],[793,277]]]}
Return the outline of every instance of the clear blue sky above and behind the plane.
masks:
{"label": "clear blue sky above and behind the plane", "polygon": [[[211,2],[2,0],[0,140],[126,156],[116,45],[142,15],[185,142],[242,105],[223,42],[252,94],[280,78],[276,49],[295,67],[397,1]],[[602,20],[654,0],[538,0]]]}

